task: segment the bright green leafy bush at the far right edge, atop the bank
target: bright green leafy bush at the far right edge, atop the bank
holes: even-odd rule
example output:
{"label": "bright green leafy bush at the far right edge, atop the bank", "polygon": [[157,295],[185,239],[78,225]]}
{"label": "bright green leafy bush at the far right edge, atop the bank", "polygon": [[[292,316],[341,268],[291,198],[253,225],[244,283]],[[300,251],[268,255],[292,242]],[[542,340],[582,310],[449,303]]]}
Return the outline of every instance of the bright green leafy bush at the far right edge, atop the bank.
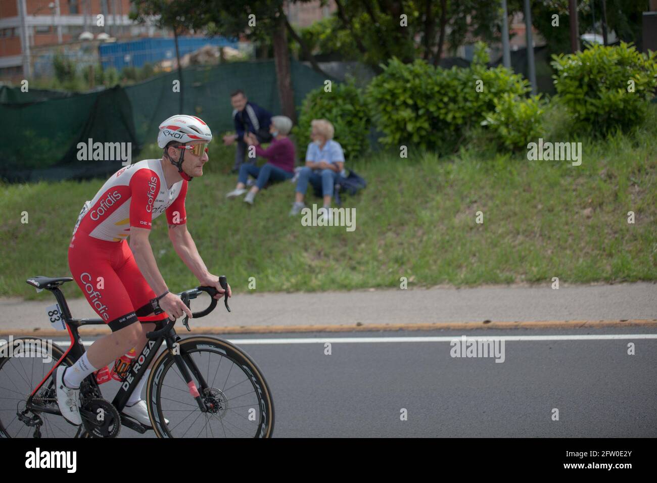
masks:
{"label": "bright green leafy bush at the far right edge, atop the bank", "polygon": [[[569,55],[553,55],[558,101],[568,110],[576,130],[608,133],[639,124],[657,85],[657,54],[639,53],[621,43],[593,45]],[[633,81],[634,91],[630,84]]]}

